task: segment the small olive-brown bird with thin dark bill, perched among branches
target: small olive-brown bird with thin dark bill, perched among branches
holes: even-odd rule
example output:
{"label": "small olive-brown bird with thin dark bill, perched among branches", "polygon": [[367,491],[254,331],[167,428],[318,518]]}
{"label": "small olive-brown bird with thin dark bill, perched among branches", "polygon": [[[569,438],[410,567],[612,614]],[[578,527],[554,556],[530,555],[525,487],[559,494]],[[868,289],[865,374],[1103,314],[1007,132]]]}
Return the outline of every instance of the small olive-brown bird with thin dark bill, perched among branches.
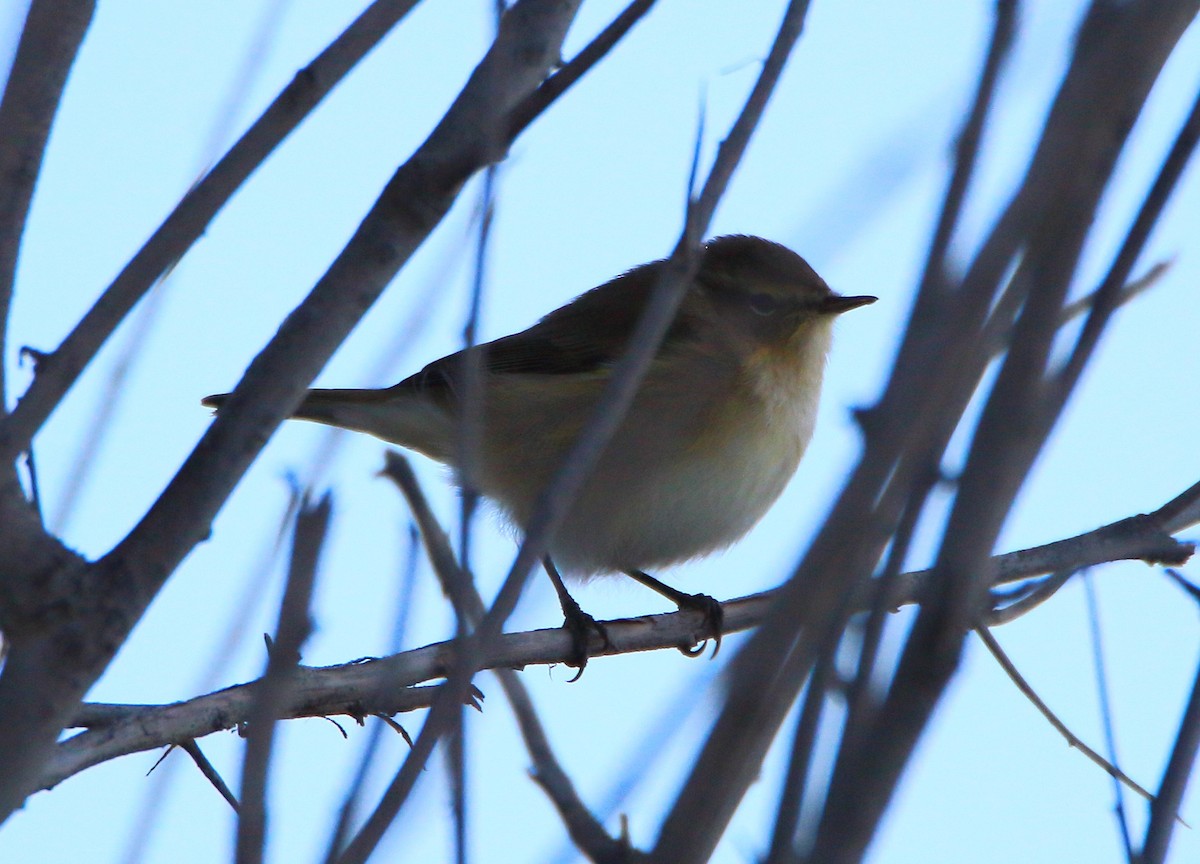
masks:
{"label": "small olive-brown bird with thin dark bill, perched among branches", "polygon": [[[470,348],[472,358],[434,360],[395,386],[310,390],[292,416],[366,432],[461,470],[470,360],[482,404],[478,452],[463,479],[524,528],[665,265],[635,268],[528,330]],[[632,576],[682,607],[703,608],[720,638],[715,600],[646,570],[728,546],[775,502],[812,434],[834,318],[875,300],[833,293],[800,256],[769,240],[728,235],[704,245],[629,413],[545,559],[581,670],[586,628],[606,636],[571,600],[557,568],[584,578]],[[227,397],[204,404],[216,408]]]}

